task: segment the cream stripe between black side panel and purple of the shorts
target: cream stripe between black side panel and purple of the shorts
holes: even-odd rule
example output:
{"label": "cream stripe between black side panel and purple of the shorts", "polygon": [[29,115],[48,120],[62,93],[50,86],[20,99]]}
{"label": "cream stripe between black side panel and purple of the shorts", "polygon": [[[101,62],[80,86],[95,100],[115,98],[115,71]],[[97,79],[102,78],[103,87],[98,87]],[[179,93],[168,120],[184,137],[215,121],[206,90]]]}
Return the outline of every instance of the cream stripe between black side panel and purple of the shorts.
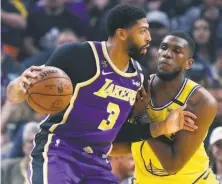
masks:
{"label": "cream stripe between black side panel and purple of the shorts", "polygon": [[49,134],[48,135],[48,141],[44,146],[44,152],[42,153],[43,158],[44,158],[44,163],[43,163],[43,184],[48,184],[48,151],[49,151],[49,145],[52,142],[52,137],[55,134]]}

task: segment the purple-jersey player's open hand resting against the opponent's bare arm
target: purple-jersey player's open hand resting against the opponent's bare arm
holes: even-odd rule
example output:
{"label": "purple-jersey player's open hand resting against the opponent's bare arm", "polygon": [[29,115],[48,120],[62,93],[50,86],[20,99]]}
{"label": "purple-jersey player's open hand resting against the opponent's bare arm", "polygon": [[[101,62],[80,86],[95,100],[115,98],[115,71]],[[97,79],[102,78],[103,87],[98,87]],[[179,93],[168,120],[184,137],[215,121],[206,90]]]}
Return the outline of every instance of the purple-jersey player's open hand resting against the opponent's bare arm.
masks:
{"label": "purple-jersey player's open hand resting against the opponent's bare arm", "polygon": [[172,134],[182,129],[194,131],[198,128],[194,125],[194,120],[197,118],[196,115],[189,111],[184,111],[185,108],[186,104],[170,112],[164,121],[164,134]]}

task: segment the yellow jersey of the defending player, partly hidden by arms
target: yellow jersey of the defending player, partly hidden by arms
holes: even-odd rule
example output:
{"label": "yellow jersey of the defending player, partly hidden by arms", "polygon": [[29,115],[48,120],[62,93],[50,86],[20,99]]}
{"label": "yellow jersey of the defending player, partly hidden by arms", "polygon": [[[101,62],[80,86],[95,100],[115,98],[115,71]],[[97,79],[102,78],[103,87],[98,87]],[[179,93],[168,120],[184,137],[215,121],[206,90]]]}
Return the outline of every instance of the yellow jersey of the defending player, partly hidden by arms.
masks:
{"label": "yellow jersey of the defending player, partly hidden by arms", "polygon": [[[151,84],[154,77],[155,75],[151,77]],[[197,83],[189,79],[185,79],[174,100],[161,107],[155,107],[152,103],[150,103],[148,108],[149,117],[153,122],[163,121],[172,110],[186,103],[192,93],[194,93],[194,91],[199,87],[200,86]],[[167,141],[168,144],[171,144],[174,139],[173,137],[174,135],[165,135],[165,141]],[[146,141],[133,143],[132,153],[136,165],[136,178],[141,184],[217,183],[215,176],[209,168],[209,158],[206,154],[203,143],[199,146],[196,153],[191,157],[187,164],[175,175],[169,175],[163,169],[160,161]]]}

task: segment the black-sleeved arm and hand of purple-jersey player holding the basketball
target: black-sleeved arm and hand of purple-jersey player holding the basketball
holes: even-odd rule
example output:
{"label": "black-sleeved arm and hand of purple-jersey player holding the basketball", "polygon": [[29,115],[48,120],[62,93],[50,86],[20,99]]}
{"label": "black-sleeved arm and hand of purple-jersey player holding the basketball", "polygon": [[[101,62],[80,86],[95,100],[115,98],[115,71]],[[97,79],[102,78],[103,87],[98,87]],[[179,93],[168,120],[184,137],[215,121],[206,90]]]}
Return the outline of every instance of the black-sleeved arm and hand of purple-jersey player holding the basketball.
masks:
{"label": "black-sleeved arm and hand of purple-jersey player holding the basketball", "polygon": [[[96,73],[94,55],[87,42],[65,44],[59,47],[52,54],[45,66],[54,66],[65,71],[72,79],[74,86],[79,82],[90,79]],[[29,79],[35,78],[35,71],[41,71],[43,67],[32,66],[25,70],[20,77],[10,82],[7,87],[8,100],[13,103],[24,101],[26,93],[24,85],[31,85]]]}

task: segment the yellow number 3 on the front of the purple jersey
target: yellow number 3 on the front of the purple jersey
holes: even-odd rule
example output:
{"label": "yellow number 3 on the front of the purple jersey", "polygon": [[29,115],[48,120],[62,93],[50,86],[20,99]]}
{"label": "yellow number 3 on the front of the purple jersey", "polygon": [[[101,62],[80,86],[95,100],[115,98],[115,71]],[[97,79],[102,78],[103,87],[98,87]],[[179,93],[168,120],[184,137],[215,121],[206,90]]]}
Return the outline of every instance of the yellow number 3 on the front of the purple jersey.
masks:
{"label": "yellow number 3 on the front of the purple jersey", "polygon": [[107,106],[107,112],[110,114],[108,119],[102,120],[102,122],[99,124],[99,127],[98,127],[98,129],[103,130],[103,131],[112,129],[113,126],[115,125],[116,120],[120,113],[119,106],[117,104],[110,102]]}

